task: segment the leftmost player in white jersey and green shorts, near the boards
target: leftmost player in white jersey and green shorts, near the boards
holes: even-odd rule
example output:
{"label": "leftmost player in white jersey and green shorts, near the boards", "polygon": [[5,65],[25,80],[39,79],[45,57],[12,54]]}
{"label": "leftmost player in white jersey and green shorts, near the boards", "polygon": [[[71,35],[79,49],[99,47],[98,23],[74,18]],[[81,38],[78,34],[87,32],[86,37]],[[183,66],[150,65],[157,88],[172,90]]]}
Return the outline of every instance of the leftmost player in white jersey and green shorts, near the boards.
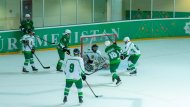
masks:
{"label": "leftmost player in white jersey and green shorts, near the boards", "polygon": [[22,51],[25,58],[22,72],[29,72],[27,70],[29,63],[31,64],[33,71],[38,71],[38,69],[34,65],[34,59],[33,59],[33,53],[35,52],[35,42],[34,42],[33,32],[31,30],[28,30],[27,32],[28,34],[25,34],[21,39]]}

